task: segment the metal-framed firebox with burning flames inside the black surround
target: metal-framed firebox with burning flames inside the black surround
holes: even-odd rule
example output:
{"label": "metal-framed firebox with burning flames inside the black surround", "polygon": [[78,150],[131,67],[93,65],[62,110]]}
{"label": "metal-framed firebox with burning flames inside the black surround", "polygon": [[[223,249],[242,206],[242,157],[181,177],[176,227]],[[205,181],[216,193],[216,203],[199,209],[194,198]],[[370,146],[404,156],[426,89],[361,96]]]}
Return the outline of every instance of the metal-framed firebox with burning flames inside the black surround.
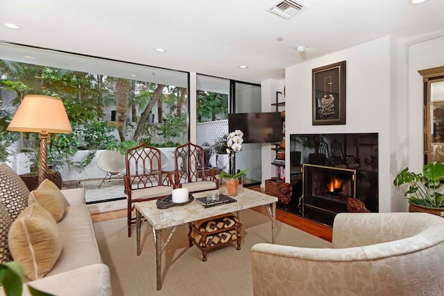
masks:
{"label": "metal-framed firebox with burning flames inside the black surround", "polygon": [[347,198],[355,198],[355,192],[356,170],[324,165],[302,166],[299,204],[302,215],[306,217],[321,215],[331,220],[337,213],[347,211]]}

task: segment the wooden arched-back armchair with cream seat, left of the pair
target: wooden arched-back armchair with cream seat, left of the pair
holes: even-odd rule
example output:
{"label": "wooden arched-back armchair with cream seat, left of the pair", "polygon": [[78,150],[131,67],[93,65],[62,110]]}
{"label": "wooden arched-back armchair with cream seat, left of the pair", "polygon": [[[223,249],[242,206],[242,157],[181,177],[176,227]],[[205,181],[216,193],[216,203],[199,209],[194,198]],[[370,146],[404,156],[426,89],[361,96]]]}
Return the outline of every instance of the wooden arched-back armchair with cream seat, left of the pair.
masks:
{"label": "wooden arched-back armchair with cream seat, left of the pair", "polygon": [[159,199],[171,195],[174,181],[171,172],[162,171],[162,153],[159,149],[142,142],[141,145],[128,149],[125,154],[126,176],[125,192],[128,196],[128,237],[131,236],[131,217],[135,202]]}

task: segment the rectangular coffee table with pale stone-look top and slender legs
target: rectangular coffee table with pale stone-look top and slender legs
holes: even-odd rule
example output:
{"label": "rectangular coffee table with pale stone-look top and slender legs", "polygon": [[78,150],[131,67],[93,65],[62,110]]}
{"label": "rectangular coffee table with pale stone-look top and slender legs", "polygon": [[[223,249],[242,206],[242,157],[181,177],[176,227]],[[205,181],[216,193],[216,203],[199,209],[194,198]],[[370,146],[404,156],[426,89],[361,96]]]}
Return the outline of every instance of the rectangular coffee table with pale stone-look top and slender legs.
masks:
{"label": "rectangular coffee table with pale stone-look top and slender legs", "polygon": [[[207,192],[195,193],[194,198],[205,197]],[[155,243],[155,264],[157,290],[162,289],[161,277],[161,258],[162,252],[167,246],[171,236],[179,225],[193,222],[207,217],[214,217],[226,213],[239,212],[255,206],[265,206],[268,215],[271,217],[271,243],[275,243],[275,220],[276,220],[276,202],[278,197],[266,195],[262,192],[244,188],[244,191],[234,197],[237,202],[222,204],[211,208],[203,208],[198,202],[193,201],[185,206],[173,206],[160,210],[156,206],[156,201],[139,202],[135,204],[136,209],[136,233],[137,233],[137,256],[140,255],[140,227],[142,226],[142,216],[151,224],[153,238]],[[239,215],[239,213],[238,213]],[[162,245],[162,230],[173,227],[164,245]]]}

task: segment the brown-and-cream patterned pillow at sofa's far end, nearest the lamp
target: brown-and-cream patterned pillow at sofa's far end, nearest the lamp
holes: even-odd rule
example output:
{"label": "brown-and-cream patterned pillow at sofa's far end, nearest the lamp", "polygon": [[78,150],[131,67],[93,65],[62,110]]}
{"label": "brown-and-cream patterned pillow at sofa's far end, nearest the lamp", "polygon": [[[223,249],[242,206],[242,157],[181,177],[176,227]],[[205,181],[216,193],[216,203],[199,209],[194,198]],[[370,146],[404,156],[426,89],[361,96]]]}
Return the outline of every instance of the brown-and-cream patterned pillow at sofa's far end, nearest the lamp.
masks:
{"label": "brown-and-cream patterned pillow at sofa's far end, nearest the lamp", "polygon": [[6,163],[0,163],[0,200],[12,220],[28,206],[26,184]]}

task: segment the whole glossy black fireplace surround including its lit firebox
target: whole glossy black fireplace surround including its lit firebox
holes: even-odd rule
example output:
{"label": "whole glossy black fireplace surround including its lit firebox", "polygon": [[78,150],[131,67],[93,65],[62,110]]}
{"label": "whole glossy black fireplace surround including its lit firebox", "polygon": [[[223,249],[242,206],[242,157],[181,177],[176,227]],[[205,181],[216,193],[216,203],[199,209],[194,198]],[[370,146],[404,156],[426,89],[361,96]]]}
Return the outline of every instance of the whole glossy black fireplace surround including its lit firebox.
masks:
{"label": "whole glossy black fireplace surround including its lit firebox", "polygon": [[330,226],[337,213],[348,212],[348,197],[378,212],[377,154],[377,133],[291,134],[293,195],[278,208]]}

